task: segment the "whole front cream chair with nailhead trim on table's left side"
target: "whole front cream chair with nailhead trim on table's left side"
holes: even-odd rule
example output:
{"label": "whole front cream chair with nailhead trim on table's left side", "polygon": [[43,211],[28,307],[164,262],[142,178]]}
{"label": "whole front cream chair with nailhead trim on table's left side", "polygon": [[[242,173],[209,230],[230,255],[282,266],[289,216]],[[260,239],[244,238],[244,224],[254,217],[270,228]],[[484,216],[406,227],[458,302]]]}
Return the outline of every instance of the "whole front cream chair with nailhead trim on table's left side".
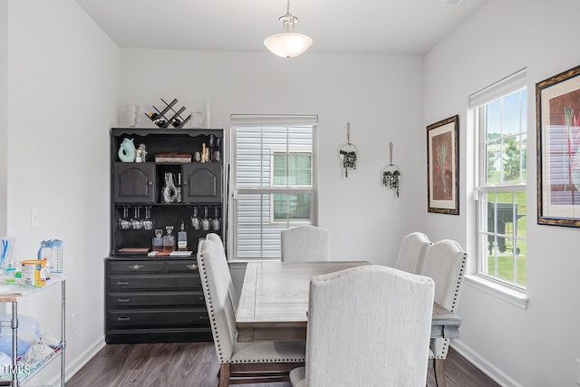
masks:
{"label": "whole front cream chair with nailhead trim on table's left side", "polygon": [[[237,343],[231,275],[218,236],[199,241],[198,268],[211,333],[219,361],[219,387],[229,384],[285,382],[304,364],[304,341]],[[237,298],[236,298],[237,299]]]}

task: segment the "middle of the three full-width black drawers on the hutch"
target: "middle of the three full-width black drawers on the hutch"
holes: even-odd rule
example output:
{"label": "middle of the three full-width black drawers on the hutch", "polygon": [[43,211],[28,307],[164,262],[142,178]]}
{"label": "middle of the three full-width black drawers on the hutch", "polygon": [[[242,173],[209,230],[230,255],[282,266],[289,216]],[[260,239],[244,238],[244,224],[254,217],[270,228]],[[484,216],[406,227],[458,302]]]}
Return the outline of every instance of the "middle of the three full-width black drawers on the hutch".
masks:
{"label": "middle of the three full-width black drawers on the hutch", "polygon": [[203,292],[120,292],[109,295],[109,305],[113,308],[131,306],[195,306],[206,305]]}

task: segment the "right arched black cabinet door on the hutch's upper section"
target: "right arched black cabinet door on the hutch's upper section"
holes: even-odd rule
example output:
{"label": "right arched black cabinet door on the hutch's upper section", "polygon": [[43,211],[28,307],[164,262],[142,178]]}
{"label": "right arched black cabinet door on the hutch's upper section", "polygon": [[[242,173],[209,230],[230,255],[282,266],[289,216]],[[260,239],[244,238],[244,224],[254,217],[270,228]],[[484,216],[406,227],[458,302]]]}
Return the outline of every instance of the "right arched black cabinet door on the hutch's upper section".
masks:
{"label": "right arched black cabinet door on the hutch's upper section", "polygon": [[221,203],[221,168],[218,163],[184,164],[183,202]]}

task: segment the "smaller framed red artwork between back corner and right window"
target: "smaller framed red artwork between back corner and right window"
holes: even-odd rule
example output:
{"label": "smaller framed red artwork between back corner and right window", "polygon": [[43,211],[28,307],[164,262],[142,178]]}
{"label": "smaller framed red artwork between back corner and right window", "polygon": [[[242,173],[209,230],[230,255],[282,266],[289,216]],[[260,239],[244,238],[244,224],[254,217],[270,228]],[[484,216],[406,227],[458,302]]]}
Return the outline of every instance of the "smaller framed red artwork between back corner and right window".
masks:
{"label": "smaller framed red artwork between back corner and right window", "polygon": [[459,115],[427,127],[427,211],[459,215]]}

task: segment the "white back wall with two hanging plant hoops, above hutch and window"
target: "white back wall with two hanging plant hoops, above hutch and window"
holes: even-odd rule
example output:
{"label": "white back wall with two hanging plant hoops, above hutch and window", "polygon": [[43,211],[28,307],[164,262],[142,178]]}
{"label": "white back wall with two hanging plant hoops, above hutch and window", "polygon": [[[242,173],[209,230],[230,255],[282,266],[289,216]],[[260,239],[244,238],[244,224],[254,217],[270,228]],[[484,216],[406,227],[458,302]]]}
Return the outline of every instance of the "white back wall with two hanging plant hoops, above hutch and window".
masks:
{"label": "white back wall with two hanging plant hoops, above hutch and window", "polygon": [[[192,37],[193,38],[193,37]],[[315,54],[287,60],[271,53],[121,50],[121,107],[144,112],[177,98],[177,107],[214,105],[214,126],[229,129],[232,113],[317,114],[319,225],[331,231],[335,260],[392,264],[405,234],[418,227],[426,200],[422,176],[422,57]],[[149,107],[147,107],[149,105]],[[121,108],[120,107],[120,108]],[[338,150],[351,141],[360,157],[343,178]],[[381,186],[389,162],[402,170],[401,197]]]}

